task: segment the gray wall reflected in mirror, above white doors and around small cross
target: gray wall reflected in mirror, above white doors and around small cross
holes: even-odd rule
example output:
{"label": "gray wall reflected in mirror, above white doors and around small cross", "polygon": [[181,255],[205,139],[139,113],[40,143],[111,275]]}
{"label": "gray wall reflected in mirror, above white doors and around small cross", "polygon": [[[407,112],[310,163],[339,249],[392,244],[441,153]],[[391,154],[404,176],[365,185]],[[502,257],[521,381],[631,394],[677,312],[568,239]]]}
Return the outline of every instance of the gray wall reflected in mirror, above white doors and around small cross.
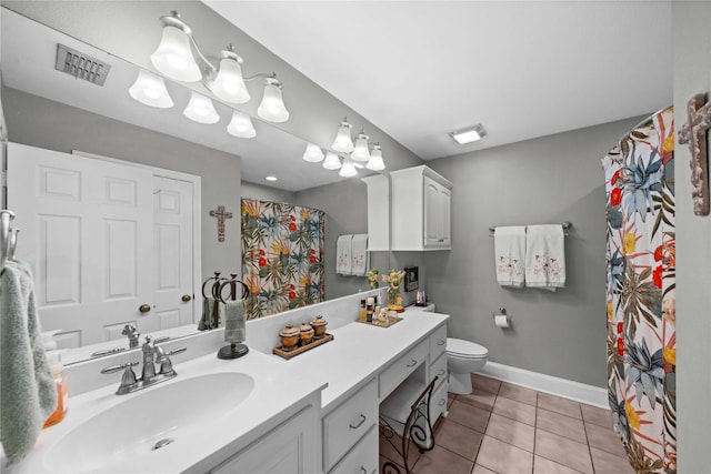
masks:
{"label": "gray wall reflected in mirror, above white doors and around small cross", "polygon": [[[14,89],[2,88],[11,142],[71,153],[80,150],[199,175],[202,185],[202,275],[241,273],[239,157],[151,132]],[[9,183],[12,185],[13,183]],[[210,210],[226,205],[226,240]],[[8,203],[12,208],[12,203]]]}

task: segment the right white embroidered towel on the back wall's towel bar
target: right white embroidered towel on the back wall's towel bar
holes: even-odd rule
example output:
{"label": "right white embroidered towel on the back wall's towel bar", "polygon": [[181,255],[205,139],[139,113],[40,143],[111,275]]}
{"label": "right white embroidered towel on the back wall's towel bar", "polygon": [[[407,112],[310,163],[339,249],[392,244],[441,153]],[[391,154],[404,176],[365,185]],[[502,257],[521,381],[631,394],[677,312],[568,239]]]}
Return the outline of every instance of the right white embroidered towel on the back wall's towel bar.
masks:
{"label": "right white embroidered towel on the back wall's towel bar", "polygon": [[528,226],[525,285],[550,291],[565,286],[565,236],[562,225]]}

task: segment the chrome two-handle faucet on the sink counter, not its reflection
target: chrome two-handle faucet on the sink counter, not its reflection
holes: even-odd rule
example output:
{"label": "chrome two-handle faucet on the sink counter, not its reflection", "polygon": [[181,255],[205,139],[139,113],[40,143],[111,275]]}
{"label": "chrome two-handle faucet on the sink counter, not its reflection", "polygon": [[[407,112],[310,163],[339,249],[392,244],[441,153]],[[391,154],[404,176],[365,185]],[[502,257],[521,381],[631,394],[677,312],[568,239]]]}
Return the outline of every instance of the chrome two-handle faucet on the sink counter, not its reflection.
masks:
{"label": "chrome two-handle faucet on the sink counter, not its reflection", "polygon": [[[137,379],[133,372],[133,366],[138,365],[138,362],[127,362],[126,364],[110,365],[101,370],[102,374],[112,374],[123,370],[123,376],[121,377],[121,384],[116,391],[117,395],[124,395],[132,393],[147,386],[154,385],[160,382],[164,382],[178,375],[173,369],[170,356],[184,352],[187,347],[178,347],[173,351],[166,352],[163,347],[156,342],[151,345],[151,336],[146,336],[146,342],[141,347],[143,352],[143,367],[141,369],[141,377]],[[158,373],[156,373],[156,364],[158,364]]]}

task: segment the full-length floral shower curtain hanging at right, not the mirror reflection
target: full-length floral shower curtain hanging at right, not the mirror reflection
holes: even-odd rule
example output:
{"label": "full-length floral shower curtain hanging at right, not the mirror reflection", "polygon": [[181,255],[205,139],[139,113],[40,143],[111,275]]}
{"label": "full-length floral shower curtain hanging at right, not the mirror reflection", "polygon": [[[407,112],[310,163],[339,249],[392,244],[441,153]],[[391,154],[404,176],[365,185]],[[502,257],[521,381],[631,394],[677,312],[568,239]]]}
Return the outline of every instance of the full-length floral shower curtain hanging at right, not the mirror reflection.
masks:
{"label": "full-length floral shower curtain hanging at right, not the mirror reflection", "polygon": [[609,402],[638,473],[677,472],[673,160],[671,108],[602,159]]}

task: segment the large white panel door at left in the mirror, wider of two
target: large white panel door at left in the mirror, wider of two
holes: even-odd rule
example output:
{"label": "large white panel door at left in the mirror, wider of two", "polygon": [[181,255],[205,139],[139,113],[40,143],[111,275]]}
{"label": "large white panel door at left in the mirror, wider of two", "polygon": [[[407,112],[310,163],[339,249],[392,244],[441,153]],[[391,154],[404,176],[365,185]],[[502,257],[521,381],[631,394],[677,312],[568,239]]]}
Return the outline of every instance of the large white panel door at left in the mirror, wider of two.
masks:
{"label": "large white panel door at left in the mirror, wider of two", "polygon": [[153,177],[147,169],[8,144],[8,205],[21,229],[44,331],[63,346],[158,329],[153,305]]}

